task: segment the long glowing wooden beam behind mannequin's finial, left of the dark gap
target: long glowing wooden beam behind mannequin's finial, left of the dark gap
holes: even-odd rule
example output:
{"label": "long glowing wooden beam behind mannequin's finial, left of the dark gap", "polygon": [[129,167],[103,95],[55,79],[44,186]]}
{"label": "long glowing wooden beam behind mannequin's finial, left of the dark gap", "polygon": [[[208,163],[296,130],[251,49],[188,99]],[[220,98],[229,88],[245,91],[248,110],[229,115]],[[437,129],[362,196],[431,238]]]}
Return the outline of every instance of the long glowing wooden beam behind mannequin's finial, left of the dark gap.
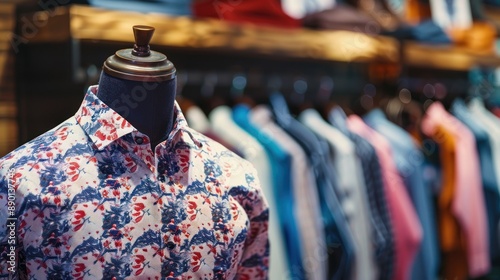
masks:
{"label": "long glowing wooden beam behind mannequin's finial, left of the dark gap", "polygon": [[342,62],[398,59],[395,40],[363,33],[288,30],[87,6],[73,6],[70,13],[71,34],[80,40],[132,42],[132,26],[145,24],[156,28],[152,45]]}

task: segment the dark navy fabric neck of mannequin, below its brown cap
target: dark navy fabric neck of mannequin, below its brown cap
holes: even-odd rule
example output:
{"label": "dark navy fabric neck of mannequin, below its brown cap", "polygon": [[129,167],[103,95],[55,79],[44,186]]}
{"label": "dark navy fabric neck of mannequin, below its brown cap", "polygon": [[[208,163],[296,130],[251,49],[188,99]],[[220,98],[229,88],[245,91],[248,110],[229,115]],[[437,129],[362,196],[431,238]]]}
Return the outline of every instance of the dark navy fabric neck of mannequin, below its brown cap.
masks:
{"label": "dark navy fabric neck of mannequin, below its brown cap", "polygon": [[154,149],[172,130],[175,87],[175,78],[162,82],[137,82],[102,72],[97,95],[137,130],[146,134]]}

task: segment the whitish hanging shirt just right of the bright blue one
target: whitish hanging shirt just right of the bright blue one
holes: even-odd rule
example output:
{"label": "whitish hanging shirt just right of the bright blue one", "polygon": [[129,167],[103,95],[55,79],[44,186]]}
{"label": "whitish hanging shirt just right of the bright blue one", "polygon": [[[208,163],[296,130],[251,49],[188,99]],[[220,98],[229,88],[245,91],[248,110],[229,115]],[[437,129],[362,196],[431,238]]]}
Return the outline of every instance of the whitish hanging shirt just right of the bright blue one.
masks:
{"label": "whitish hanging shirt just right of the bright blue one", "polygon": [[325,279],[325,234],[316,182],[307,156],[302,148],[272,120],[269,108],[264,105],[253,108],[250,120],[292,155],[291,183],[295,200],[293,211],[302,240],[302,262],[307,279]]}

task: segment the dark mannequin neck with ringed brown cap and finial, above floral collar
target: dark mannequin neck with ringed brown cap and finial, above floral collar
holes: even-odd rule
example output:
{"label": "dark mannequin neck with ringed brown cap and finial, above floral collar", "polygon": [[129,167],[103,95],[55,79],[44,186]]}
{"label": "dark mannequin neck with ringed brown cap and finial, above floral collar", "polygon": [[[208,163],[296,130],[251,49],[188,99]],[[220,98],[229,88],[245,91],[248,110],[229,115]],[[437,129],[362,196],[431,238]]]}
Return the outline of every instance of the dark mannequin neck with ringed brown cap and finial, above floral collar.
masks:
{"label": "dark mannequin neck with ringed brown cap and finial, above floral collar", "polygon": [[103,66],[98,97],[149,137],[154,149],[172,130],[176,76],[174,65],[151,51],[154,28],[133,28],[133,49],[119,50]]}

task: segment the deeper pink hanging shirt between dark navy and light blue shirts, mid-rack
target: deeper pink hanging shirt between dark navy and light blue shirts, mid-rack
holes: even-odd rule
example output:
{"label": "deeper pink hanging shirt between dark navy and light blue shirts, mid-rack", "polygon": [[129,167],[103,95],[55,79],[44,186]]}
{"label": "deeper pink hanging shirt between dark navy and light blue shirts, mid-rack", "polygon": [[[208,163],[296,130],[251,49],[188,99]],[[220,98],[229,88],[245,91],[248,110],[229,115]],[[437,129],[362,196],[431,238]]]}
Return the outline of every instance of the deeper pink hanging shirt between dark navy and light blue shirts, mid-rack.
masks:
{"label": "deeper pink hanging shirt between dark navy and light blue shirts, mid-rack", "polygon": [[394,279],[410,279],[413,260],[422,241],[422,226],[394,163],[390,145],[383,136],[356,115],[349,116],[347,125],[354,133],[368,140],[377,152],[393,225]]}

